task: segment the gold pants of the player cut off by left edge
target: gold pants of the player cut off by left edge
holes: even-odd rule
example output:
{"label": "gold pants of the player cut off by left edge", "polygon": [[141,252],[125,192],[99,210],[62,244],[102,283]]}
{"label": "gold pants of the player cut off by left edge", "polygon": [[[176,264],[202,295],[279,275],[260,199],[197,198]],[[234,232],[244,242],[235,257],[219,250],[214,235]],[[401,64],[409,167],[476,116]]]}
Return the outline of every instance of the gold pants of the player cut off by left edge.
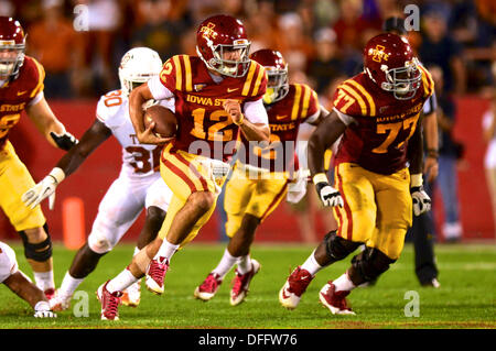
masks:
{"label": "gold pants of the player cut off by left edge", "polygon": [[34,185],[28,168],[7,141],[0,150],[0,207],[17,231],[43,227],[46,221],[40,206],[30,209],[21,200]]}

